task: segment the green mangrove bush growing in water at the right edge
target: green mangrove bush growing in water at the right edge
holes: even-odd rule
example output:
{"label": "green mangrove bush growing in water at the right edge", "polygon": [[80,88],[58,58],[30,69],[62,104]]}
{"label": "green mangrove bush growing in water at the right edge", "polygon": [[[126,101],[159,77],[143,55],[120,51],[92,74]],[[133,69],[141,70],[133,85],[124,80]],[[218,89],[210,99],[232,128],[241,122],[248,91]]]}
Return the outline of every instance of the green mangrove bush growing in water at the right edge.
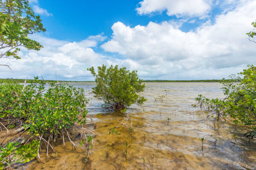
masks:
{"label": "green mangrove bush growing in water at the right edge", "polygon": [[256,129],[256,67],[248,65],[241,73],[223,79],[222,84],[224,99],[207,99],[198,95],[198,104],[194,106],[207,108],[212,112],[209,116],[219,120],[230,117],[236,125],[248,125]]}

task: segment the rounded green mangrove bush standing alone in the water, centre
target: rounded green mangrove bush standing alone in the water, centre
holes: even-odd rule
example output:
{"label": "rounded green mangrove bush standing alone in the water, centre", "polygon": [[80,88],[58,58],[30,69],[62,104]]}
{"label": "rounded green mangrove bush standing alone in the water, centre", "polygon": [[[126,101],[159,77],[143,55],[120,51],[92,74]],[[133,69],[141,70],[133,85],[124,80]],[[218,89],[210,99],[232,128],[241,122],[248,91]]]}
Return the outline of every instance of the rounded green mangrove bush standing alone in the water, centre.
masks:
{"label": "rounded green mangrove bush standing alone in the water, centre", "polygon": [[137,71],[130,72],[125,67],[118,68],[117,65],[111,65],[110,68],[106,68],[106,65],[99,66],[98,74],[93,67],[87,70],[95,77],[96,87],[93,88],[93,93],[113,110],[121,111],[134,103],[142,105],[146,101],[137,94],[145,88]]}

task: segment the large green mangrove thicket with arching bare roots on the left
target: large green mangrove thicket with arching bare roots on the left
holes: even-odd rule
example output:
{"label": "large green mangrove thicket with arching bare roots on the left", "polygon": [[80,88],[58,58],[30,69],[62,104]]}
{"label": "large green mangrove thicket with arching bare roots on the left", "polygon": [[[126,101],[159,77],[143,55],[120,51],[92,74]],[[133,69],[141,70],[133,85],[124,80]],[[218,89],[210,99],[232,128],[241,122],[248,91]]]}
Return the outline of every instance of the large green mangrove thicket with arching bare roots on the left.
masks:
{"label": "large green mangrove thicket with arching bare roots on the left", "polygon": [[46,84],[38,77],[24,86],[15,82],[0,84],[3,125],[6,128],[16,124],[22,126],[29,136],[47,143],[47,154],[48,147],[54,150],[50,143],[56,142],[58,136],[63,138],[63,143],[64,136],[67,136],[76,148],[70,139],[70,131],[87,133],[83,127],[87,116],[86,104],[83,89],[59,83]]}

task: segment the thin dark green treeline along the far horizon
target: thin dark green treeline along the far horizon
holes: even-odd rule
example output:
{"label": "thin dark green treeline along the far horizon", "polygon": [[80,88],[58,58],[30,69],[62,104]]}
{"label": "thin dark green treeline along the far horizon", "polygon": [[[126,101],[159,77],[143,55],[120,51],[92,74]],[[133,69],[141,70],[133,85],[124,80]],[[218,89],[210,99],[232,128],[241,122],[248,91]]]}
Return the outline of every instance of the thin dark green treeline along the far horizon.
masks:
{"label": "thin dark green treeline along the far horizon", "polygon": [[[11,80],[17,83],[25,82],[25,79],[0,79],[0,80]],[[27,79],[27,83],[32,79]],[[45,82],[57,82],[56,80],[44,80]],[[143,80],[143,82],[221,82],[222,79],[210,79],[210,80]],[[94,81],[59,81],[59,82],[94,82]]]}

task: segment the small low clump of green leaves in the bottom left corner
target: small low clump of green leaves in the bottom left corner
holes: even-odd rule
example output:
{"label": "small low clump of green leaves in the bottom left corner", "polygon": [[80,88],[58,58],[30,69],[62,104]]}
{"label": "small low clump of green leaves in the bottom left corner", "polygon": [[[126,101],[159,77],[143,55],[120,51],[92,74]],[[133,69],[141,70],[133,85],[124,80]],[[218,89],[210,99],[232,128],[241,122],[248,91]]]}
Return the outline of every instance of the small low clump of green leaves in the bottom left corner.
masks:
{"label": "small low clump of green leaves in the bottom left corner", "polygon": [[19,143],[9,142],[0,151],[0,170],[11,167],[15,163],[26,163],[38,154],[39,142],[18,146]]}

